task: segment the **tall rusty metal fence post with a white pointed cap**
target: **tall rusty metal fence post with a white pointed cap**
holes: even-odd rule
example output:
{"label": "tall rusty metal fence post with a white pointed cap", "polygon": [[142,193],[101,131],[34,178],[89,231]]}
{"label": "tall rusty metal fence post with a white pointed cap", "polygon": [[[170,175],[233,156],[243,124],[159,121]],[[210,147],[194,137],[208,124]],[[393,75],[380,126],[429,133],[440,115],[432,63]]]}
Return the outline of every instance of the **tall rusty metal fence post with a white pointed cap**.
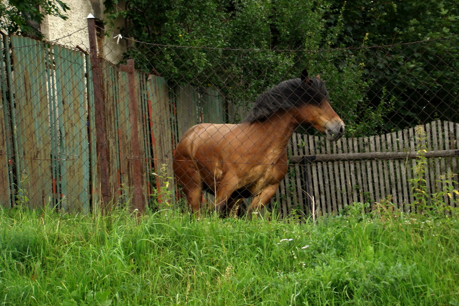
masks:
{"label": "tall rusty metal fence post with a white pointed cap", "polygon": [[[94,85],[94,115],[95,115],[95,128],[97,139],[97,164],[98,174],[100,175],[100,192],[102,200],[102,211],[109,212],[109,202],[111,199],[109,187],[109,173],[108,173],[108,156],[107,156],[107,141],[105,135],[105,121],[104,121],[104,100],[102,96],[101,79],[100,79],[100,59],[97,56],[97,41],[95,35],[95,22],[94,16],[89,14],[88,32],[89,32],[89,48],[91,53],[91,70],[92,82]],[[91,127],[92,128],[92,127]]]}

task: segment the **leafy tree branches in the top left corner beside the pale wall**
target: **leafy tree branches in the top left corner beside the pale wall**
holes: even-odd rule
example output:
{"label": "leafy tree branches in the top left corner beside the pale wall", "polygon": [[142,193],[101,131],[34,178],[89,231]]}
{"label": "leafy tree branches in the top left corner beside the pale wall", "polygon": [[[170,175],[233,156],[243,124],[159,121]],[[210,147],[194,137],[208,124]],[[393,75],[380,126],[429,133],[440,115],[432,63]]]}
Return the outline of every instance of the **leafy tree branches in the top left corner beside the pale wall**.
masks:
{"label": "leafy tree branches in the top left corner beside the pale wall", "polygon": [[41,38],[37,26],[47,15],[67,19],[70,8],[61,0],[5,0],[0,2],[0,29]]}

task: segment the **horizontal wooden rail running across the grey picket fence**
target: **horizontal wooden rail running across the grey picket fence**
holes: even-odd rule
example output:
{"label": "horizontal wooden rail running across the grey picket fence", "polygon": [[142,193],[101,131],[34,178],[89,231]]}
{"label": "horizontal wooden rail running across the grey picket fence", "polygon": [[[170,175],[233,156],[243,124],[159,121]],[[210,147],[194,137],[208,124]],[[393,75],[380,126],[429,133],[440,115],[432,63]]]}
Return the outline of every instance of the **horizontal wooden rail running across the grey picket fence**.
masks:
{"label": "horizontal wooden rail running across the grey picket fence", "polygon": [[369,161],[369,160],[389,160],[424,157],[459,157],[459,150],[436,150],[425,151],[419,154],[413,152],[362,152],[362,153],[340,153],[340,154],[320,154],[320,155],[294,155],[290,158],[290,163],[300,163],[305,160],[314,162],[337,162],[337,161]]}

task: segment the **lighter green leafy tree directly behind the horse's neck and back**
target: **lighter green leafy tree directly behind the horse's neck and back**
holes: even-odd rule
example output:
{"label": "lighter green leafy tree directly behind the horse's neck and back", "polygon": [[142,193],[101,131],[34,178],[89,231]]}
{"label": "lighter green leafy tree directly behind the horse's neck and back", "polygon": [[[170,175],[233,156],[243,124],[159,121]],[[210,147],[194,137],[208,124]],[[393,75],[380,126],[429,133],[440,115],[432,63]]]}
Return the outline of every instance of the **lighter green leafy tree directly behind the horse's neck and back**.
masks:
{"label": "lighter green leafy tree directly behind the horse's neck and back", "polygon": [[[329,48],[341,31],[325,27],[329,5],[324,0],[132,0],[120,9],[117,0],[107,0],[109,17],[124,17],[123,36],[134,43],[125,57],[136,67],[158,72],[169,82],[186,82],[203,88],[217,87],[238,109],[228,121],[238,121],[244,110],[267,88],[297,78],[304,67],[313,74],[326,71],[333,98],[343,90],[333,53],[304,52]],[[352,63],[346,80],[361,88],[359,65]],[[334,101],[350,116],[360,92]],[[357,98],[355,97],[358,96]],[[342,113],[342,112],[341,112]],[[343,116],[346,116],[344,114]]]}

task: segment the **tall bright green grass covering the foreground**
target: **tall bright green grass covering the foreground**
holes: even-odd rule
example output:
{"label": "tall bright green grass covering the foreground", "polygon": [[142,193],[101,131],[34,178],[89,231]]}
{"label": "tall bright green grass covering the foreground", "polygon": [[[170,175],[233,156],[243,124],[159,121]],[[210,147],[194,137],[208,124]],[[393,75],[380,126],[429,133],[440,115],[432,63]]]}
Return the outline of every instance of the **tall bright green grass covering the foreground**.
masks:
{"label": "tall bright green grass covering the foreground", "polygon": [[0,210],[0,305],[459,305],[459,218]]}

